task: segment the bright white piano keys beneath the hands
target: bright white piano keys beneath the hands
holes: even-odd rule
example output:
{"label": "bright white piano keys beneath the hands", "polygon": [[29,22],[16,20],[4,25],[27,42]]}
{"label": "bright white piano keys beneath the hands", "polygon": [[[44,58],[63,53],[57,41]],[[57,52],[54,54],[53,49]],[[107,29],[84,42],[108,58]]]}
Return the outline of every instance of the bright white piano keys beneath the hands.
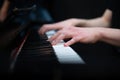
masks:
{"label": "bright white piano keys beneath the hands", "polygon": [[[54,30],[46,32],[48,38],[55,34]],[[84,60],[71,48],[64,47],[64,41],[61,40],[57,45],[52,46],[58,61],[62,64],[85,64]]]}

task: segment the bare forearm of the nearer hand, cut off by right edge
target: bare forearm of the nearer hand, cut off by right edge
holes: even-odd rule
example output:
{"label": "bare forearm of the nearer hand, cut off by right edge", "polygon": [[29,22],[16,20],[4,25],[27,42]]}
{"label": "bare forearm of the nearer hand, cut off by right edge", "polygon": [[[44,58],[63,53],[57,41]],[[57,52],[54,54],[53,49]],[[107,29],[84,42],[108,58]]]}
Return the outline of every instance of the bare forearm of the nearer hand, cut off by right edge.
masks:
{"label": "bare forearm of the nearer hand, cut off by right edge", "polygon": [[120,46],[120,29],[103,28],[101,32],[101,41]]}

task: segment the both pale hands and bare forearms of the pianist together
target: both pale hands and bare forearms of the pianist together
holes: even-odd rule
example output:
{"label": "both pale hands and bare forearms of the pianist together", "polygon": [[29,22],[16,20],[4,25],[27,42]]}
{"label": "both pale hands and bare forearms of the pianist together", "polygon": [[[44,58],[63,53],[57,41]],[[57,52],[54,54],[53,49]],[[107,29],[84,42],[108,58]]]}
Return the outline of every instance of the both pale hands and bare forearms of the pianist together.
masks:
{"label": "both pale hands and bare forearms of the pianist together", "polygon": [[120,29],[110,28],[112,11],[106,9],[101,17],[94,19],[67,19],[54,24],[45,24],[39,29],[40,34],[49,30],[58,30],[48,39],[53,45],[68,39],[64,46],[74,43],[96,43],[103,41],[115,46],[120,46]]}

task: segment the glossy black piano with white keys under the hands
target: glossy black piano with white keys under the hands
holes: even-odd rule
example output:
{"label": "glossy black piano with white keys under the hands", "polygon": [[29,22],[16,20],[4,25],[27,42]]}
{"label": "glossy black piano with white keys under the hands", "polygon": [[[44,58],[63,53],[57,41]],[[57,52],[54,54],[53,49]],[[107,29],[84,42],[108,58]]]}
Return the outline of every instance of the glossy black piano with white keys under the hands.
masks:
{"label": "glossy black piano with white keys under the hands", "polygon": [[[52,46],[46,40],[55,34],[55,31],[48,31],[43,36],[37,32],[43,24],[53,22],[50,15],[44,8],[29,9],[27,8],[27,13],[24,9],[18,10],[17,15],[10,17],[6,21],[7,24],[0,29],[3,31],[2,35],[0,34],[0,73],[5,76],[4,78],[43,80],[118,78],[120,73],[118,54],[106,55],[102,51],[101,54],[97,54],[97,51],[96,54],[78,53],[84,50],[82,44],[79,45],[81,49],[78,49],[78,46],[64,47],[63,40],[58,45]],[[21,15],[21,11],[25,13]],[[6,30],[8,25],[10,28]]]}

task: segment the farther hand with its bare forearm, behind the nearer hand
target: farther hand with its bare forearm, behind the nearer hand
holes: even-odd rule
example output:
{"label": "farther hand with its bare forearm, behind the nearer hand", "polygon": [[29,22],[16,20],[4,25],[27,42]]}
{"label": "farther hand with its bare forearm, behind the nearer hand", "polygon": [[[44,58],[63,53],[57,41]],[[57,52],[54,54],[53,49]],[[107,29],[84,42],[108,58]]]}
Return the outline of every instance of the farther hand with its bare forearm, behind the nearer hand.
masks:
{"label": "farther hand with its bare forearm, behind the nearer hand", "polygon": [[93,19],[67,19],[54,24],[45,24],[39,29],[40,34],[44,34],[49,30],[60,30],[66,27],[109,27],[111,20],[111,12],[106,10],[102,17]]}

